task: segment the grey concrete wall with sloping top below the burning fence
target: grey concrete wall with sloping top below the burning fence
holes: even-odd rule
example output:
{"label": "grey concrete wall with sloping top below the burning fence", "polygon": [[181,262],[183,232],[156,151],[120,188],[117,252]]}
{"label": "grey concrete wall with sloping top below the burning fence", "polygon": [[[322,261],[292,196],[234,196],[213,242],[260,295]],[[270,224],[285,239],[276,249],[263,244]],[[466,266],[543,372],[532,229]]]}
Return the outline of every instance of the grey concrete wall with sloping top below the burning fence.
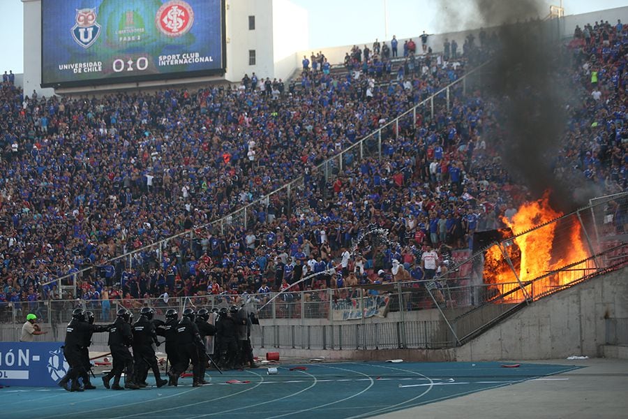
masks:
{"label": "grey concrete wall with sloping top below the burning fence", "polygon": [[603,356],[604,319],[628,317],[627,276],[628,268],[624,268],[534,302],[457,348],[456,360]]}

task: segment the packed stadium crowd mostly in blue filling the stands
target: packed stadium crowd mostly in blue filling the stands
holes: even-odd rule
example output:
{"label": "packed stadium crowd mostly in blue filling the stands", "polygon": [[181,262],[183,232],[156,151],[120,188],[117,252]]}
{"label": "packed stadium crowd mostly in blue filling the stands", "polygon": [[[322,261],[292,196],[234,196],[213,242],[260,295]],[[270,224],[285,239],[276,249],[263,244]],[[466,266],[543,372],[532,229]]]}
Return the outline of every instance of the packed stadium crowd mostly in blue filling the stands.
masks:
{"label": "packed stadium crowd mostly in blue filling the stands", "polygon": [[[627,186],[627,32],[596,22],[568,45],[579,105],[555,172],[606,193]],[[0,304],[269,293],[336,266],[338,277],[305,287],[386,281],[400,264],[408,279],[444,272],[452,249],[502,226],[527,193],[492,147],[505,134],[479,91],[458,85],[449,112],[435,101],[433,119],[426,109],[398,133],[382,130],[381,158],[375,144],[362,160],[346,153],[342,170],[336,159],[333,176],[316,166],[460,78],[497,43],[471,36],[462,57],[449,41],[444,54],[404,48],[397,57],[395,40],[390,50],[354,47],[340,68],[313,54],[287,89],[253,74],[239,87],[44,98],[3,80]],[[291,196],[255,205],[247,229],[198,228],[301,175]],[[390,234],[355,251],[373,228]],[[138,252],[130,266],[112,261],[190,229],[191,241]],[[50,284],[87,266],[79,295]]]}

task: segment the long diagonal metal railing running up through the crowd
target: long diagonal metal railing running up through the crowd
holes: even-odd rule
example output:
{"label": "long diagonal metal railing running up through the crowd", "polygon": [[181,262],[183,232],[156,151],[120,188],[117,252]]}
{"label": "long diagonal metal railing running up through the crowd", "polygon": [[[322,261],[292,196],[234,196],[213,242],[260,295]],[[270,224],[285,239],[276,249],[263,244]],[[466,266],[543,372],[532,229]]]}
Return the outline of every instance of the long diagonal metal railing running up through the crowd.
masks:
{"label": "long diagonal metal railing running up through the crowd", "polygon": [[[465,75],[461,76],[461,78],[458,78],[454,82],[447,84],[447,86],[442,87],[442,89],[439,89],[424,101],[421,101],[414,107],[403,112],[401,115],[398,115],[398,117],[392,119],[390,122],[387,122],[376,131],[373,131],[373,133],[366,135],[366,137],[358,140],[350,147],[343,149],[341,152],[338,152],[326,161],[323,161],[319,165],[315,166],[313,175],[322,172],[325,179],[328,180],[333,178],[336,174],[343,172],[343,168],[347,165],[352,165],[370,157],[377,157],[377,159],[380,159],[382,157],[382,145],[384,142],[387,140],[397,140],[400,135],[401,128],[416,126],[417,115],[422,113],[425,119],[433,119],[435,112],[441,108],[447,111],[450,110],[451,102],[455,96],[458,96],[459,94],[465,95],[468,90],[479,88],[481,86],[482,69],[487,64],[488,63],[481,64],[468,73],[465,73]],[[229,228],[244,226],[246,229],[255,223],[254,211],[260,207],[260,205],[268,206],[271,201],[275,200],[290,202],[290,198],[300,196],[303,192],[304,176],[301,176],[268,193],[268,195],[262,196],[262,198],[259,198],[252,203],[248,203],[239,210],[231,212],[216,221],[211,221],[191,230],[186,230],[183,233],[172,235],[163,240],[159,240],[158,242],[154,242],[148,244],[147,246],[134,249],[133,251],[128,251],[120,256],[110,258],[110,260],[107,261],[107,264],[113,265],[117,261],[121,261],[124,263],[125,267],[137,267],[138,265],[146,263],[145,260],[141,260],[141,253],[154,252],[155,258],[158,260],[163,254],[163,251],[167,249],[171,243],[175,243],[179,250],[193,251],[194,240],[197,238],[197,231],[209,230],[213,233],[224,234],[225,230]],[[98,266],[100,265],[83,267],[82,269],[77,270],[77,272],[57,277],[42,285],[57,282],[57,284],[61,285],[62,289],[73,290],[74,295],[76,295],[77,279],[80,279],[83,274],[87,272],[98,269]]]}

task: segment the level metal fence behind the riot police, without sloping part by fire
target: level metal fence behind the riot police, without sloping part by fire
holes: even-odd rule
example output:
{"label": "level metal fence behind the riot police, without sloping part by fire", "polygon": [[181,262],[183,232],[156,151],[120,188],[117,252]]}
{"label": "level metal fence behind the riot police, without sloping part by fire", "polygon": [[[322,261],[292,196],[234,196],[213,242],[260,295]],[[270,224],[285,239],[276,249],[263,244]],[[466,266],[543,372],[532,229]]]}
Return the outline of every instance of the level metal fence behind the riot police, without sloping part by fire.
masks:
{"label": "level metal fence behind the riot police, without sloping part by fire", "polygon": [[[489,286],[455,286],[453,281],[443,283],[443,294],[450,307],[472,304],[470,295],[491,297]],[[62,341],[72,311],[82,307],[94,313],[96,323],[113,323],[119,308],[125,307],[139,315],[142,307],[155,309],[156,318],[164,318],[170,308],[181,313],[186,308],[211,309],[230,307],[249,302],[255,305],[260,328],[253,334],[257,348],[301,349],[365,349],[365,348],[437,348],[451,346],[451,332],[442,320],[427,314],[435,307],[428,284],[431,281],[395,283],[391,291],[364,288],[326,288],[313,291],[294,291],[255,295],[202,295],[197,297],[141,298],[123,300],[47,300],[13,302],[0,306],[0,341],[20,339],[27,314],[33,313],[43,330],[36,341]],[[509,286],[509,284],[504,284]],[[354,319],[343,318],[343,307],[368,307],[366,300],[386,300],[380,314],[353,311]],[[270,302],[269,304],[267,304]],[[343,304],[345,303],[345,304]],[[357,314],[357,316],[355,315]],[[94,335],[93,342],[104,346],[106,334]]]}

